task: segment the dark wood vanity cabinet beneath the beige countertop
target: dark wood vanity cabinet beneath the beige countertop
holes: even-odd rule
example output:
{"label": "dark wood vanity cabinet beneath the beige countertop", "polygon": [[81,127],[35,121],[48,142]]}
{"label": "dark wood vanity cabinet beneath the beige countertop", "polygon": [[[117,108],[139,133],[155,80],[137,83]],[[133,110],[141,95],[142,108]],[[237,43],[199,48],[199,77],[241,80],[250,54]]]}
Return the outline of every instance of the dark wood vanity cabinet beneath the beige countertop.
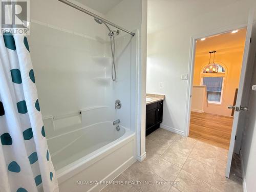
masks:
{"label": "dark wood vanity cabinet beneath the beige countertop", "polygon": [[163,121],[163,101],[146,105],[146,136],[157,130]]}

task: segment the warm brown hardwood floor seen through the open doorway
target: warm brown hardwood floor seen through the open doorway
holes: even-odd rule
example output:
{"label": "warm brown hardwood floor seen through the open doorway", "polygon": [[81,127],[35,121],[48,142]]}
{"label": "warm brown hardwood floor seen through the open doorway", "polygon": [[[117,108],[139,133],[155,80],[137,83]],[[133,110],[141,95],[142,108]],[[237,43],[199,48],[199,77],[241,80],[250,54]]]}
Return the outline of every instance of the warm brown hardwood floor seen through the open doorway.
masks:
{"label": "warm brown hardwood floor seen through the open doorway", "polygon": [[191,112],[189,137],[228,149],[232,123],[232,117]]}

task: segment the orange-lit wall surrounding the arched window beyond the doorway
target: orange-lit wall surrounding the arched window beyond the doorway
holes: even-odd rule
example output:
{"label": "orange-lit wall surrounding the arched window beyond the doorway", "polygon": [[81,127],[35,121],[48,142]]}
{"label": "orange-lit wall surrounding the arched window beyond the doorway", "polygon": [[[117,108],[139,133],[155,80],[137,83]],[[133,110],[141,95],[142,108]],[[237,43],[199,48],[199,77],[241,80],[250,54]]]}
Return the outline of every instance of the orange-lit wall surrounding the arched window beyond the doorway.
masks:
{"label": "orange-lit wall surrounding the arched window beyond the doorway", "polygon": [[[205,113],[212,113],[218,115],[231,116],[231,110],[227,109],[228,105],[233,104],[234,93],[239,86],[239,78],[242,66],[243,50],[236,50],[232,52],[218,52],[215,56],[217,63],[223,64],[226,68],[226,75],[224,78],[224,88],[221,104],[211,104],[204,110]],[[209,62],[209,54],[197,54],[195,57],[194,68],[194,82],[197,86],[201,83],[202,69]]]}

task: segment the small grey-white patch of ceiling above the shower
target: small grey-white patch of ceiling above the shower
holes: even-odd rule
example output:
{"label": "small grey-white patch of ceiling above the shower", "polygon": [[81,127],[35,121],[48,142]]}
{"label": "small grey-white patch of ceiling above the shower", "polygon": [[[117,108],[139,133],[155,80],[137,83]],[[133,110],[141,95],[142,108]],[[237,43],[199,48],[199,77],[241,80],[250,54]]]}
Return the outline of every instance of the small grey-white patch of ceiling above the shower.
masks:
{"label": "small grey-white patch of ceiling above the shower", "polygon": [[94,9],[102,14],[108,13],[122,0],[76,0],[77,2]]}

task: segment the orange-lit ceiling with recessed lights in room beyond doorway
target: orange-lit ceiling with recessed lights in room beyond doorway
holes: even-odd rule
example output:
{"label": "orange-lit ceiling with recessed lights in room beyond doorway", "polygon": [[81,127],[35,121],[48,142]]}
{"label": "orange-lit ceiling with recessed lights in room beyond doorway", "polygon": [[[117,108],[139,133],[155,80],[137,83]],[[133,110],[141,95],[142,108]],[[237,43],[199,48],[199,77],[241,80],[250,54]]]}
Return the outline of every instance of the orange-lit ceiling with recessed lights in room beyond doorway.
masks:
{"label": "orange-lit ceiling with recessed lights in room beyond doorway", "polygon": [[209,51],[227,51],[228,49],[243,49],[245,43],[246,28],[239,29],[237,33],[222,33],[206,37],[205,40],[197,40],[196,53],[205,54]]}

